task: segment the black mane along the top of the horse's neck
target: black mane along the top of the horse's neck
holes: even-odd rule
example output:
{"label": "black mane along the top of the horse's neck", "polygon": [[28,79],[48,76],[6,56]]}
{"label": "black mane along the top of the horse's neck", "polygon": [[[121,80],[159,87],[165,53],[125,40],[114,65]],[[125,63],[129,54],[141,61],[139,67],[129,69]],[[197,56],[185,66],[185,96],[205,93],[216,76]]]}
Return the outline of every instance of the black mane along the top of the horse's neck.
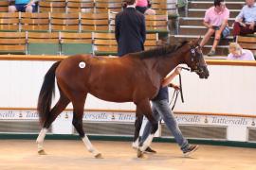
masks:
{"label": "black mane along the top of the horse's neck", "polygon": [[174,53],[177,49],[181,48],[186,43],[187,41],[174,44],[174,45],[164,45],[164,46],[156,47],[154,49],[150,49],[147,51],[134,53],[133,55],[136,55],[140,59],[150,59],[150,58],[155,58],[159,56],[167,56],[171,53]]}

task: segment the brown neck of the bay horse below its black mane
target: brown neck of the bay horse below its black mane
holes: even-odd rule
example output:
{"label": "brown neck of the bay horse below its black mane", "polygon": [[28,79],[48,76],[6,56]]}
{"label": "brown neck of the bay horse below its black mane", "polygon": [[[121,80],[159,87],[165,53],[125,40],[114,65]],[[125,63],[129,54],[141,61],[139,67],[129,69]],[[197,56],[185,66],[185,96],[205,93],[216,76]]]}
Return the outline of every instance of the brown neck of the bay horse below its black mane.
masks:
{"label": "brown neck of the bay horse below its black mane", "polygon": [[157,72],[159,75],[165,77],[167,76],[174,68],[183,63],[183,53],[175,52],[171,56],[162,57],[158,59],[157,63]]}

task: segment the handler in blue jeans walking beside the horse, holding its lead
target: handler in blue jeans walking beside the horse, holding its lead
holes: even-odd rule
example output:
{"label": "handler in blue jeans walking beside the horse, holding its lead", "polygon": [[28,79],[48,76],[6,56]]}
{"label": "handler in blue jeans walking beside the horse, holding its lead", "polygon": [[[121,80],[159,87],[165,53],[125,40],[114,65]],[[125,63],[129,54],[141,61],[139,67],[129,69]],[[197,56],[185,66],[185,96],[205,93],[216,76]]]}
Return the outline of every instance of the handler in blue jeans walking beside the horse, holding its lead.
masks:
{"label": "handler in blue jeans walking beside the horse, holding its lead", "polygon": [[[153,116],[155,117],[155,120],[160,121],[161,119],[164,120],[166,127],[172,132],[174,135],[174,139],[179,144],[180,149],[182,150],[183,154],[185,156],[191,155],[195,150],[197,150],[198,145],[196,144],[189,144],[188,140],[184,138],[182,135],[177,121],[174,116],[174,112],[170,109],[169,106],[169,93],[168,93],[168,86],[173,87],[175,90],[179,90],[179,87],[177,85],[174,85],[171,83],[175,76],[179,75],[181,72],[181,67],[176,67],[174,69],[174,72],[166,76],[162,82],[162,87],[160,88],[159,92],[155,96],[154,99],[152,99],[152,110],[153,110]],[[147,121],[146,127],[144,128],[142,137],[141,137],[141,143],[144,143],[145,140],[148,138],[151,132],[151,123]],[[146,152],[152,152],[155,153],[155,150],[151,147],[148,147]]]}

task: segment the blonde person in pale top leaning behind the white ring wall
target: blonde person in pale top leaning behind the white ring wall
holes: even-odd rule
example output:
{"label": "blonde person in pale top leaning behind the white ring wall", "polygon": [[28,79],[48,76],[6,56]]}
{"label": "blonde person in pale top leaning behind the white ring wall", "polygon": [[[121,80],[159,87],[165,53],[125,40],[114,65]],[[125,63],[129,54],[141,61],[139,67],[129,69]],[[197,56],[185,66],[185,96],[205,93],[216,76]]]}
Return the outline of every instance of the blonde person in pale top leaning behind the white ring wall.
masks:
{"label": "blonde person in pale top leaning behind the white ring wall", "polygon": [[229,44],[228,59],[234,60],[255,60],[250,50],[243,49],[238,43],[231,42]]}

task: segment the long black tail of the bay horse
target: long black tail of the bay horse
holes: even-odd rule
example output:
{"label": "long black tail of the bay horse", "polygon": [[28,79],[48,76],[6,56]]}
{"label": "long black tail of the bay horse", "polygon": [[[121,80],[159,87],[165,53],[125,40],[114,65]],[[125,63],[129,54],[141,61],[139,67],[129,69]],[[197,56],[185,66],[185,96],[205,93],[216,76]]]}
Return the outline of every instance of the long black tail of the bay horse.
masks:
{"label": "long black tail of the bay horse", "polygon": [[55,71],[60,63],[61,61],[55,62],[47,71],[39,93],[37,111],[42,125],[45,123],[50,113],[52,95],[54,95],[55,90]]}

